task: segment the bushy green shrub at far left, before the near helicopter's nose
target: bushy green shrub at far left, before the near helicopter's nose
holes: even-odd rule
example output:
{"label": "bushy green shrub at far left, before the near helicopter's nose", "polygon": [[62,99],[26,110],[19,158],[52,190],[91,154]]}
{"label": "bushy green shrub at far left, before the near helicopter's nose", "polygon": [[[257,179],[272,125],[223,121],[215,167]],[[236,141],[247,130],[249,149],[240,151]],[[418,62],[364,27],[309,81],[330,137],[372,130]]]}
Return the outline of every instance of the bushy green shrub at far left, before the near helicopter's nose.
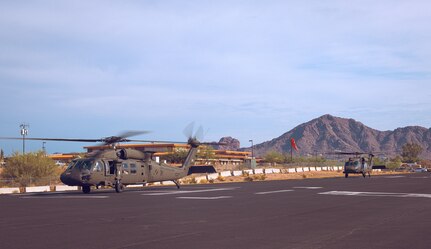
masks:
{"label": "bushy green shrub at far left, before the near helicopter's nose", "polygon": [[22,155],[14,152],[4,166],[2,177],[12,178],[20,186],[58,177],[59,171],[54,160],[47,157],[43,151]]}

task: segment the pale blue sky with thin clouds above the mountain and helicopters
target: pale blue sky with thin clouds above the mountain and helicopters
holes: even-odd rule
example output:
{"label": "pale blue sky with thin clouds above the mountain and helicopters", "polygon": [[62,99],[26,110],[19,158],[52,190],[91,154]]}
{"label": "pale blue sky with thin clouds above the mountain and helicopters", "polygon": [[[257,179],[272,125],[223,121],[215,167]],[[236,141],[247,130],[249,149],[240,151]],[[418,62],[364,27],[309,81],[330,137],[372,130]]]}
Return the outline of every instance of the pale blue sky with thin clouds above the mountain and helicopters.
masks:
{"label": "pale blue sky with thin clouds above the mountain and helicopters", "polygon": [[1,1],[0,136],[184,141],[195,121],[249,146],[324,114],[429,128],[430,23],[427,0]]}

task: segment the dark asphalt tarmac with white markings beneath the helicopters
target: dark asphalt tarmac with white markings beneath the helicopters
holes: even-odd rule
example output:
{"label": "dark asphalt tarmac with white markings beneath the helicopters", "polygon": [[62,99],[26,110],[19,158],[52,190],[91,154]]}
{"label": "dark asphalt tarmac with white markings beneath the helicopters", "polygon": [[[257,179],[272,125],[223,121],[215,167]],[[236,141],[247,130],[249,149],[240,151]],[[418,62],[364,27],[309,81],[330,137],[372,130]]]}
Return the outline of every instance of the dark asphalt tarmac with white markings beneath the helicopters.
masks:
{"label": "dark asphalt tarmac with white markings beneath the helicopters", "polygon": [[431,175],[0,196],[1,248],[431,248]]}

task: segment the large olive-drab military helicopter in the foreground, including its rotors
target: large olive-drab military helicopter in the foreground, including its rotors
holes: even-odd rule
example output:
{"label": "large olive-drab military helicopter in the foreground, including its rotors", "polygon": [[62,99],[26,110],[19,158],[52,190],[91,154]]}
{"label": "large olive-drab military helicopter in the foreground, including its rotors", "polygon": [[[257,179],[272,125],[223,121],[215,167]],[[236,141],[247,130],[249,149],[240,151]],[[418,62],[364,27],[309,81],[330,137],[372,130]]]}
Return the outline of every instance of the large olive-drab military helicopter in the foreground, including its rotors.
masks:
{"label": "large olive-drab military helicopter in the foreground, including its rotors", "polygon": [[[190,126],[190,125],[189,125]],[[193,128],[191,128],[193,130]],[[186,128],[190,130],[190,128]],[[107,150],[99,150],[88,154],[85,158],[74,159],[61,174],[60,180],[69,186],[80,186],[82,192],[90,193],[91,186],[113,187],[117,193],[131,184],[147,184],[151,182],[172,181],[180,188],[178,180],[193,173],[215,173],[213,166],[193,166],[193,161],[200,145],[220,143],[202,143],[196,134],[202,133],[200,128],[195,136],[189,136],[187,144],[190,146],[187,157],[181,167],[173,167],[166,163],[159,163],[153,159],[154,152],[123,148],[118,150],[120,142],[151,142],[151,143],[184,143],[172,141],[132,140],[128,137],[147,132],[129,131],[119,136],[101,139],[68,139],[68,138],[26,138],[27,140],[68,141],[68,142],[102,142],[109,146]],[[190,133],[191,134],[191,133]],[[0,139],[20,139],[1,137]]]}

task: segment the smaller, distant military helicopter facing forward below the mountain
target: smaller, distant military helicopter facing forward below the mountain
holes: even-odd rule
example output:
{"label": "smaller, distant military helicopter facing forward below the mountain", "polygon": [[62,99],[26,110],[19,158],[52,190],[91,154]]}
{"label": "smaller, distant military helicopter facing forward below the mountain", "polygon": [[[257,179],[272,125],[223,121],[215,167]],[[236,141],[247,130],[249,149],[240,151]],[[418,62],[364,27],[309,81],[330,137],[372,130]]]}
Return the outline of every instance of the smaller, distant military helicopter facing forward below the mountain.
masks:
{"label": "smaller, distant military helicopter facing forward below the mountain", "polygon": [[368,175],[371,177],[373,169],[373,153],[365,152],[334,152],[334,155],[350,155],[349,159],[344,163],[344,176],[347,178],[349,174],[362,174],[363,177]]}

